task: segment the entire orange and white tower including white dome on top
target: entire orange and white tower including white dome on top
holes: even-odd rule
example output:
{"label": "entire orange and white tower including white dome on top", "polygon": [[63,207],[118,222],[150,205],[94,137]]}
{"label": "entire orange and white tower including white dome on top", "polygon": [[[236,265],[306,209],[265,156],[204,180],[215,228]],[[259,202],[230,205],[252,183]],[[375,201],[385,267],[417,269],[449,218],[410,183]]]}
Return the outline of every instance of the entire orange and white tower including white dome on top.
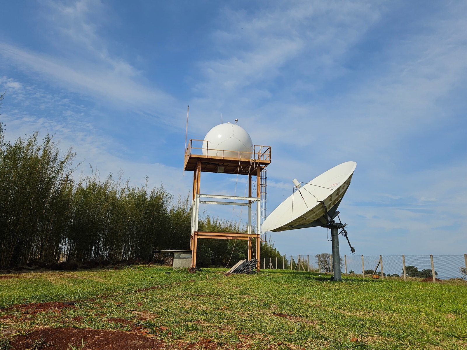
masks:
{"label": "entire orange and white tower including white dome on top", "polygon": [[[238,120],[236,120],[237,122]],[[196,268],[198,238],[244,239],[248,240],[248,260],[252,259],[252,238],[256,238],[256,270],[260,270],[260,221],[262,171],[271,162],[271,147],[253,145],[250,135],[236,123],[214,126],[204,140],[188,142],[185,149],[184,170],[193,172],[193,202],[191,206],[191,267]],[[200,193],[201,173],[217,173],[248,176],[248,197]],[[256,193],[253,196],[253,177]],[[241,205],[248,206],[248,233],[244,232],[201,232],[198,231],[199,205]],[[256,204],[256,217],[252,207]],[[253,223],[255,222],[255,230]],[[253,232],[255,231],[255,232]]]}

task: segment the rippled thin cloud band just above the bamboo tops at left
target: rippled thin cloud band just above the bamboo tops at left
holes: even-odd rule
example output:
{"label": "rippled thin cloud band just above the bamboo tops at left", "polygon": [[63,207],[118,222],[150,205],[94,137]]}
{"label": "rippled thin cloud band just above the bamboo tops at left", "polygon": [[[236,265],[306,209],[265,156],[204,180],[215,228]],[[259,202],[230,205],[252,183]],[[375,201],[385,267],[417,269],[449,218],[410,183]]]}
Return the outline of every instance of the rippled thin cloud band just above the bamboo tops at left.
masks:
{"label": "rippled thin cloud band just above the bamboo tops at left", "polygon": [[[12,78],[0,78],[0,87],[15,85]],[[18,83],[20,84],[20,83]],[[183,176],[182,169],[177,166],[158,162],[148,163],[138,160],[128,160],[121,157],[122,145],[109,135],[104,135],[84,116],[89,113],[85,107],[75,105],[69,99],[61,98],[58,94],[48,93],[37,86],[25,85],[21,95],[7,95],[8,105],[19,102],[22,108],[8,108],[2,110],[1,121],[5,126],[6,139],[13,141],[18,136],[25,138],[33,131],[39,131],[42,138],[46,133],[54,135],[60,149],[73,147],[77,153],[76,162],[82,166],[73,174],[77,179],[80,173],[91,174],[91,168],[99,171],[102,176],[112,173],[118,175],[123,171],[123,178],[130,179],[132,185],[141,185],[145,176],[149,177],[149,187],[159,186],[161,183],[167,190],[186,196],[189,193],[191,179]],[[26,111],[25,100],[28,104],[39,106],[36,113]],[[41,106],[42,104],[42,106]],[[37,112],[42,109],[50,112],[53,108],[54,116],[43,116]],[[176,199],[176,198],[175,198]]]}

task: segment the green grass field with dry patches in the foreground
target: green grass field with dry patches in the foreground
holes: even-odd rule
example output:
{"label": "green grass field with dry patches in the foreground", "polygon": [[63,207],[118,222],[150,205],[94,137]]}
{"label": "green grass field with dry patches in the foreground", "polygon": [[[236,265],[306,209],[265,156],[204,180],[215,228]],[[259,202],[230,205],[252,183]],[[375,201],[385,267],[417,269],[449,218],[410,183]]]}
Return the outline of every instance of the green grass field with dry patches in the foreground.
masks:
{"label": "green grass field with dry patches in the foreground", "polygon": [[[467,349],[462,281],[332,282],[288,270],[226,276],[154,266],[5,276],[0,349],[58,327],[136,333],[169,349]],[[27,305],[52,301],[77,303]],[[44,339],[30,348],[47,348]],[[77,344],[68,348],[92,348]]]}

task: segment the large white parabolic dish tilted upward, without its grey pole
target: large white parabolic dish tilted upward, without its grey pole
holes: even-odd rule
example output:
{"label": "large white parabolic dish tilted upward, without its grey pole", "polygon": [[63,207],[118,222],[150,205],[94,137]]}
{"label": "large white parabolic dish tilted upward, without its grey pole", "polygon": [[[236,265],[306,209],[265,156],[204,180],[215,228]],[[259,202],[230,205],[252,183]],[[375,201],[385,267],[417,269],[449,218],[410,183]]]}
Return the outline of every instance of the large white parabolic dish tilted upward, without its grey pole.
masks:
{"label": "large white parabolic dish tilted upward, without its grey pole", "polygon": [[337,215],[337,207],[356,167],[357,163],[347,161],[303,186],[295,179],[297,191],[269,214],[261,226],[262,231],[286,231],[328,224]]}

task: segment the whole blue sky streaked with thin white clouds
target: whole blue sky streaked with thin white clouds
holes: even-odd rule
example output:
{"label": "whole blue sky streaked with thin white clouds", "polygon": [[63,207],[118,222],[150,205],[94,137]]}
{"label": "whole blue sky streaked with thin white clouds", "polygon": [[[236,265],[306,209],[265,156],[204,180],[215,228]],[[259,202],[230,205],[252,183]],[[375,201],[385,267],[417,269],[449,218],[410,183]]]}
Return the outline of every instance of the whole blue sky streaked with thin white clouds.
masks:
{"label": "whole blue sky streaked with thin white clouds", "polygon": [[[79,172],[186,196],[188,138],[239,119],[272,147],[268,211],[356,161],[341,218],[357,254],[467,252],[467,4],[460,1],[8,1],[0,120],[49,132]],[[245,179],[203,175],[201,191]],[[236,184],[236,186],[235,186]],[[211,210],[211,208],[206,208]],[[227,219],[247,220],[224,210]],[[272,233],[287,255],[330,252],[321,228]],[[347,243],[341,239],[341,253]]]}

